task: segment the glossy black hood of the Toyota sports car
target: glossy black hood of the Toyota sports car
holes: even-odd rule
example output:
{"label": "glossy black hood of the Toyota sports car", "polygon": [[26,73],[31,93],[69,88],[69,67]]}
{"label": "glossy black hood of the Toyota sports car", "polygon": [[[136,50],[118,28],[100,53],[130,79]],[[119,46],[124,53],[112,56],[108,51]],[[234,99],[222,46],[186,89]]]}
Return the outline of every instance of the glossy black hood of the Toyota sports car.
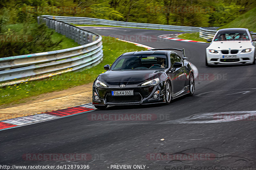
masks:
{"label": "glossy black hood of the Toyota sports car", "polygon": [[145,81],[156,78],[161,70],[109,70],[100,74],[102,82]]}

